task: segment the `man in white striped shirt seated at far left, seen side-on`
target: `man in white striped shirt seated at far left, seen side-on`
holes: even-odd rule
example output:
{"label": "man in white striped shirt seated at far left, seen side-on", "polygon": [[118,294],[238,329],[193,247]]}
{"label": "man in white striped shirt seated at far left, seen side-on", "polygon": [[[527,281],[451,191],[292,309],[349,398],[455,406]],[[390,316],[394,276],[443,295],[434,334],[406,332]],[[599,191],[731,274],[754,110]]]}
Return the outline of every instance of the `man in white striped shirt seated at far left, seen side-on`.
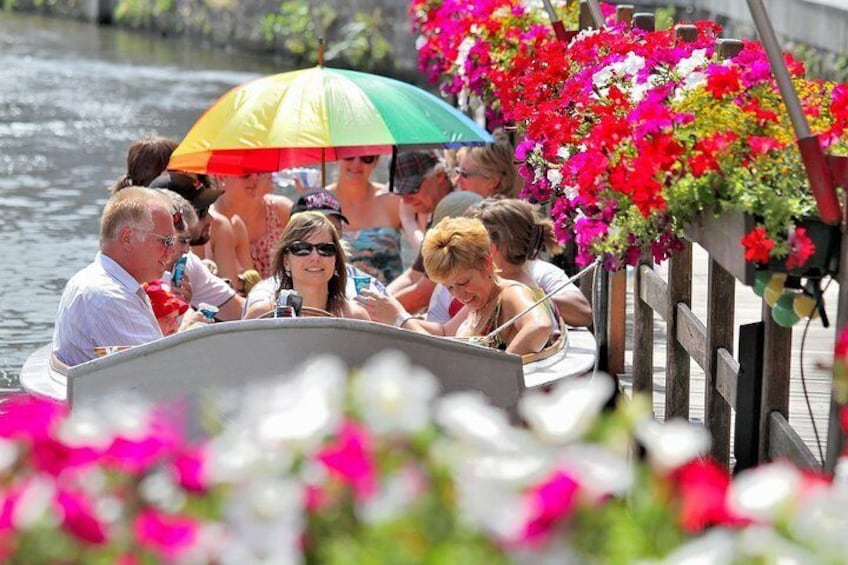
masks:
{"label": "man in white striped shirt seated at far left, seen side-on", "polygon": [[[161,276],[176,238],[171,203],[161,193],[133,186],[109,199],[100,218],[100,251],[71,277],[59,301],[53,331],[59,361],[78,365],[97,357],[98,348],[162,337],[141,283]],[[180,329],[202,319],[186,315]]]}

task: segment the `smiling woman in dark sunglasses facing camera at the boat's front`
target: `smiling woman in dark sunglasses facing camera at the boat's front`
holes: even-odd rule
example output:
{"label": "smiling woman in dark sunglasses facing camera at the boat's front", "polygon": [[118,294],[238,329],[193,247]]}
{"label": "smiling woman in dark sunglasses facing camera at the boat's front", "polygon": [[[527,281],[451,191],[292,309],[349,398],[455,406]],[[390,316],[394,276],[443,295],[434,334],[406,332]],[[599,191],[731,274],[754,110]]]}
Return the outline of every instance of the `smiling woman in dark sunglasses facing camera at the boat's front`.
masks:
{"label": "smiling woman in dark sunglasses facing camera at the boat's front", "polygon": [[267,315],[281,293],[295,290],[304,307],[339,318],[370,320],[364,308],[345,297],[344,252],[336,228],[324,214],[300,212],[292,217],[274,253],[273,280],[273,286],[259,283],[251,290],[245,318]]}

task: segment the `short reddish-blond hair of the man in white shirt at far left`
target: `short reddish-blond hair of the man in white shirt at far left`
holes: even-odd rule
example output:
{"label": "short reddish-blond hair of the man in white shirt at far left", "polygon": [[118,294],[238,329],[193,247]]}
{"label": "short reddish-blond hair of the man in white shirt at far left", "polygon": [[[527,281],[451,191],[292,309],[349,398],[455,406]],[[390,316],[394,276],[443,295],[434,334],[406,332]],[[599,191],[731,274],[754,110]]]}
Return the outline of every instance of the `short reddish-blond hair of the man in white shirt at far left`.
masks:
{"label": "short reddish-blond hair of the man in white shirt at far left", "polygon": [[100,216],[100,249],[115,241],[125,227],[153,229],[152,209],[157,205],[169,210],[171,201],[152,188],[128,186],[114,193]]}

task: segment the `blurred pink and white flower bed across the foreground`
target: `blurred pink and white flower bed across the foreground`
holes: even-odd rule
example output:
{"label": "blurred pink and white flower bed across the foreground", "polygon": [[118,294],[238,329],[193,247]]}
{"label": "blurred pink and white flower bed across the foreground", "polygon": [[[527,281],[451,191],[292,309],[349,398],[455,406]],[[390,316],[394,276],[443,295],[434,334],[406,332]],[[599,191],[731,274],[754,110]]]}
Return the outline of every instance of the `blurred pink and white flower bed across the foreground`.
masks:
{"label": "blurred pink and white flower bed across the foreground", "polygon": [[[27,398],[0,413],[5,562],[839,562],[848,485],[787,463],[731,480],[708,433],[604,408],[605,375],[528,393],[510,418],[439,394],[399,353],[352,375],[316,359],[174,407],[96,414]],[[181,405],[180,413],[195,413]],[[193,428],[197,422],[189,422]],[[194,424],[195,426],[192,426]],[[638,455],[638,454],[644,455]]]}

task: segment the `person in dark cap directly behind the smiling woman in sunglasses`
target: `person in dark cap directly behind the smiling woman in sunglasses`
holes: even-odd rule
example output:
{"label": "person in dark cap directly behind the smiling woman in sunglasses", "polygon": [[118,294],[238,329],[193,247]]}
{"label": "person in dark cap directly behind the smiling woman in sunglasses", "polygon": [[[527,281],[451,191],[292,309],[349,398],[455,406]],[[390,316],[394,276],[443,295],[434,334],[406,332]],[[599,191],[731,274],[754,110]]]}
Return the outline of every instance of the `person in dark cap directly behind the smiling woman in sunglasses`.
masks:
{"label": "person in dark cap directly behind the smiling woman in sunglasses", "polygon": [[[344,233],[344,224],[348,223],[347,218],[342,214],[342,205],[339,203],[336,195],[329,190],[310,190],[301,194],[294,205],[292,205],[292,217],[299,212],[320,212],[327,216],[327,219],[333,223],[336,231],[339,232],[339,239],[341,239]],[[383,283],[365,271],[347,263],[345,264],[345,268],[347,270],[345,295],[349,299],[359,294],[357,281],[361,281],[361,284],[365,287],[380,294],[388,294]],[[265,314],[267,310],[264,309],[264,305],[273,304],[274,293],[280,286],[279,283],[280,281],[275,277],[269,277],[253,285],[253,288],[248,294],[247,303],[245,304],[244,317],[255,318]]]}

